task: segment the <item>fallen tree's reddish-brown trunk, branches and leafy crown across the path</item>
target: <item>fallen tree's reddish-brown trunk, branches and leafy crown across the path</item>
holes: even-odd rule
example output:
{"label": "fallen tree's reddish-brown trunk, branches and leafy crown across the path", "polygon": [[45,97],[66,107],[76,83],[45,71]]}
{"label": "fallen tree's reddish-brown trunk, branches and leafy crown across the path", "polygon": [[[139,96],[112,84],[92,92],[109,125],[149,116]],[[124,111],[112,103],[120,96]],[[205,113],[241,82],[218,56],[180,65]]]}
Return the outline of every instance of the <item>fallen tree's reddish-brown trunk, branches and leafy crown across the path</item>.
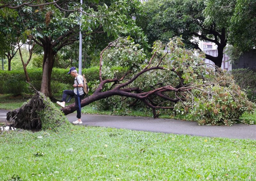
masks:
{"label": "fallen tree's reddish-brown trunk, branches and leafy crown across the path", "polygon": [[[82,100],[81,107],[117,95],[140,100],[152,108],[154,117],[156,109],[171,109],[199,124],[217,125],[242,122],[239,117],[245,111],[254,112],[255,104],[228,72],[205,64],[203,53],[183,46],[179,38],[167,44],[157,41],[152,57],[145,61],[144,50],[130,37],[109,43],[100,53],[99,84]],[[127,72],[116,77],[116,72],[110,71],[112,66],[124,67]],[[67,115],[76,108],[71,104],[61,110]]]}

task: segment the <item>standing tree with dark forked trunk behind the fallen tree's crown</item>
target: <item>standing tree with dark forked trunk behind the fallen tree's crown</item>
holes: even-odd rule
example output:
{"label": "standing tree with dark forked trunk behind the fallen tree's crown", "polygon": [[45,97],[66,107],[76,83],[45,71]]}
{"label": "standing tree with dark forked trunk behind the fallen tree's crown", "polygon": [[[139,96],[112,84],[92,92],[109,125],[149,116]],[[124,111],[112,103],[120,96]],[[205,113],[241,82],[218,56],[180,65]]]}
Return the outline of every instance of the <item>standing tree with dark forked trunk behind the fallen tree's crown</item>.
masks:
{"label": "standing tree with dark forked trunk behind the fallen tree's crown", "polygon": [[234,8],[222,7],[232,7],[232,3],[236,4],[236,0],[149,0],[143,5],[144,14],[136,20],[148,34],[150,43],[167,42],[169,37],[180,35],[189,48],[200,50],[194,37],[215,43],[218,56],[206,54],[205,57],[221,67],[234,12]]}

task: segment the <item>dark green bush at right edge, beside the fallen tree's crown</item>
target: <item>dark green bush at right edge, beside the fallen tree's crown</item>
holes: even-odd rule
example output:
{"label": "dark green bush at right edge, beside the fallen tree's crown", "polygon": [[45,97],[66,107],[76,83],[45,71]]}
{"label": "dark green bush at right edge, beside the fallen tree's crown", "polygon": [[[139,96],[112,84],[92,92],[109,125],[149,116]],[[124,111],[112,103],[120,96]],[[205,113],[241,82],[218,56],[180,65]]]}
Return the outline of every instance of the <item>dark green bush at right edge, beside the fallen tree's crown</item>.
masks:
{"label": "dark green bush at right edge, beside the fallen tree's crown", "polygon": [[248,99],[256,102],[256,72],[250,69],[234,69],[231,74],[236,84],[245,90]]}

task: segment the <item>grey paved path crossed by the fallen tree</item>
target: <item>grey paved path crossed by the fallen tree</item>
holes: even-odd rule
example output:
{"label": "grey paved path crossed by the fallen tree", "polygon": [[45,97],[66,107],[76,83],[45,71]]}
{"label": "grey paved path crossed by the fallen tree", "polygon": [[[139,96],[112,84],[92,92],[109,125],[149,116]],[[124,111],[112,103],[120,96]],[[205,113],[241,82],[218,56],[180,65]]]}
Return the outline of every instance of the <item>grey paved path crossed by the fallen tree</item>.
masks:
{"label": "grey paved path crossed by the fallen tree", "polygon": [[[8,111],[0,109],[0,121],[5,121]],[[70,122],[76,114],[67,115]],[[196,136],[239,138],[256,140],[256,125],[234,124],[233,126],[199,126],[197,122],[149,117],[108,116],[82,114],[83,124],[113,128],[125,128],[150,132],[188,134]],[[79,126],[79,125],[78,125]]]}

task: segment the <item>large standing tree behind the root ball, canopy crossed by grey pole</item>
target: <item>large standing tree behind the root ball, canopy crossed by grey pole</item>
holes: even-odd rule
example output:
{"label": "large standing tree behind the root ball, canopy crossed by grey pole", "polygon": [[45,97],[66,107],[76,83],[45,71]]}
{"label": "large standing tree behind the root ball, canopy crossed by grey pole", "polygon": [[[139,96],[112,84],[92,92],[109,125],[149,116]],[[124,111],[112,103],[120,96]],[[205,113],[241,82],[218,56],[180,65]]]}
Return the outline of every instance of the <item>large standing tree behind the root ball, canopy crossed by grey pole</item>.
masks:
{"label": "large standing tree behind the root ball, canopy crossed by grey pole", "polygon": [[64,0],[57,3],[39,8],[23,6],[17,10],[19,17],[1,23],[2,29],[4,27],[11,27],[12,31],[21,29],[18,33],[22,34],[24,39],[30,38],[43,47],[43,77],[40,91],[50,98],[53,98],[50,81],[56,53],[62,47],[78,40],[80,20],[83,23],[83,38],[106,34],[111,40],[120,34],[131,34],[137,41],[147,40],[131,17],[139,8],[139,3],[136,1],[106,1],[106,4],[97,0],[85,2],[82,19],[79,19],[79,9],[77,9],[79,3]]}

